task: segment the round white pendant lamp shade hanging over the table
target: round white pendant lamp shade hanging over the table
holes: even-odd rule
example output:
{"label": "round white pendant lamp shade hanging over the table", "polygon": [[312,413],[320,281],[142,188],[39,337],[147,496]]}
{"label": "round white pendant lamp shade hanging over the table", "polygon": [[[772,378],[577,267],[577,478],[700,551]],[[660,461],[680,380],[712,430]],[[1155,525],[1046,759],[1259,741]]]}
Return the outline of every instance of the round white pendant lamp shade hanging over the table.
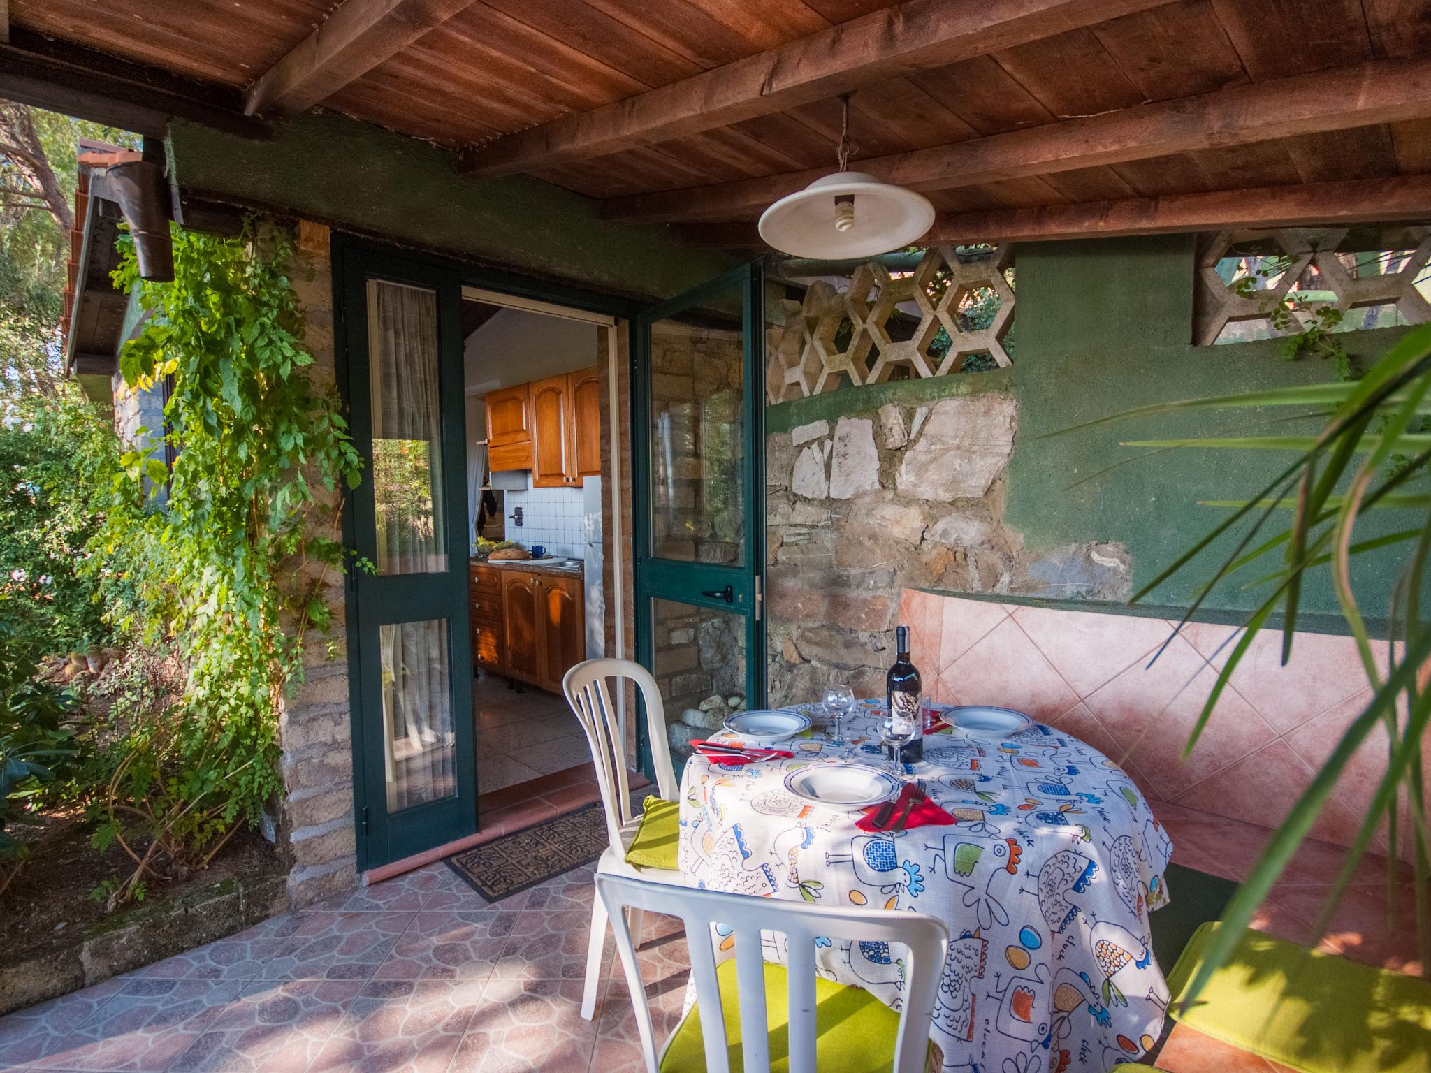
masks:
{"label": "round white pendant lamp shade hanging over the table", "polygon": [[[834,226],[834,199],[840,195],[854,197],[854,225],[849,230]],[[923,195],[864,172],[836,172],[766,209],[760,237],[797,258],[847,260],[909,246],[933,223],[934,206]]]}

